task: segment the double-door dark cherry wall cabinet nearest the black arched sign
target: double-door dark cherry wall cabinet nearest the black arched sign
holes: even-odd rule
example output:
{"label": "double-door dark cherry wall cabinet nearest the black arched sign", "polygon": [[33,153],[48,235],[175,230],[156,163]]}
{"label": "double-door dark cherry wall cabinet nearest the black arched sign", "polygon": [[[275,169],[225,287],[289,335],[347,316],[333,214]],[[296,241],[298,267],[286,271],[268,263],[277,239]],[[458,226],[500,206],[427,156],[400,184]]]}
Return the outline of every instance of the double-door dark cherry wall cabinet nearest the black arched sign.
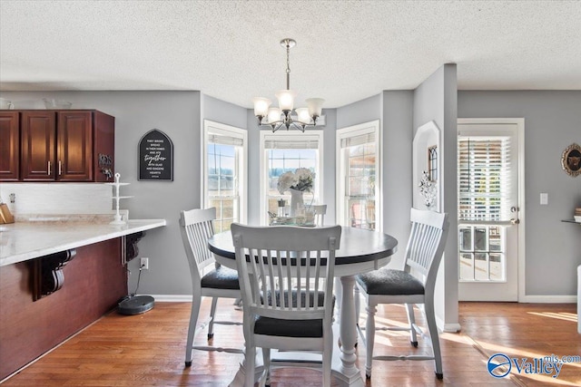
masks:
{"label": "double-door dark cherry wall cabinet nearest the black arched sign", "polygon": [[[111,181],[112,116],[94,110],[18,111],[18,114],[20,176],[16,180]],[[4,175],[0,179],[7,181]]]}

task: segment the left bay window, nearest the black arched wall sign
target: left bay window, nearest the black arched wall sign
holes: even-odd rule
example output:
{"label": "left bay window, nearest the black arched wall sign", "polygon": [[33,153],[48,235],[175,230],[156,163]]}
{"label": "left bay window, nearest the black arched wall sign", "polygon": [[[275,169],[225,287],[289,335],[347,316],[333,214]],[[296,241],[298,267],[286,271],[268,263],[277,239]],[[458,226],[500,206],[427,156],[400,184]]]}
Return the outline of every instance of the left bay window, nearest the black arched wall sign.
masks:
{"label": "left bay window, nearest the black arched wall sign", "polygon": [[204,120],[203,206],[216,208],[215,232],[246,222],[246,131]]}

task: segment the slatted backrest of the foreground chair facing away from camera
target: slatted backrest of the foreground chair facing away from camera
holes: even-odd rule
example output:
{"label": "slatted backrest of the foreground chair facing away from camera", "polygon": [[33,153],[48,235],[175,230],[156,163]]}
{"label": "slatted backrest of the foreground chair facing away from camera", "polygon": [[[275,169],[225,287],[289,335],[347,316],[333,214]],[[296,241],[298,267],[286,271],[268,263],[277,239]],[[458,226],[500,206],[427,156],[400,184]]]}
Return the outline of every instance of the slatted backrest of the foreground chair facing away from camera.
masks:
{"label": "slatted backrest of the foreground chair facing away from camera", "polygon": [[[231,226],[242,294],[253,314],[280,319],[323,318],[332,308],[340,226]],[[245,256],[245,264],[241,261]],[[243,297],[244,298],[244,297]],[[329,315],[329,314],[328,314]]]}

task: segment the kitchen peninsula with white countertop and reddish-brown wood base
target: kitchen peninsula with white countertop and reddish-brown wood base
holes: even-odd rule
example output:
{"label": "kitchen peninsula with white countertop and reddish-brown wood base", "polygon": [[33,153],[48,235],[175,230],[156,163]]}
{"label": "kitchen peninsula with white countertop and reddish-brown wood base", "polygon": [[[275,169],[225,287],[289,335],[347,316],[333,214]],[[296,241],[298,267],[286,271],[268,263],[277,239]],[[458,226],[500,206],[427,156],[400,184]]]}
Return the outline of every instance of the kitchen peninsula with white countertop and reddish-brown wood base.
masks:
{"label": "kitchen peninsula with white countertop and reddish-brown wood base", "polygon": [[112,310],[128,294],[133,243],[166,224],[30,220],[0,225],[0,381]]}

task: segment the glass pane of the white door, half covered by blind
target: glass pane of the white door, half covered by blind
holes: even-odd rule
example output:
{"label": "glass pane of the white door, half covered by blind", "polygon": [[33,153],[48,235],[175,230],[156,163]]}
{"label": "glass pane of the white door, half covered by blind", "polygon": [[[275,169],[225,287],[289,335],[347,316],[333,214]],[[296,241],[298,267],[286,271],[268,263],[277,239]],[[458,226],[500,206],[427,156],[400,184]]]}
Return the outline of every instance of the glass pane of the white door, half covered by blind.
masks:
{"label": "glass pane of the white door, half covered by blind", "polygon": [[511,217],[510,158],[510,137],[458,135],[461,281],[505,280],[506,229],[501,223]]}

